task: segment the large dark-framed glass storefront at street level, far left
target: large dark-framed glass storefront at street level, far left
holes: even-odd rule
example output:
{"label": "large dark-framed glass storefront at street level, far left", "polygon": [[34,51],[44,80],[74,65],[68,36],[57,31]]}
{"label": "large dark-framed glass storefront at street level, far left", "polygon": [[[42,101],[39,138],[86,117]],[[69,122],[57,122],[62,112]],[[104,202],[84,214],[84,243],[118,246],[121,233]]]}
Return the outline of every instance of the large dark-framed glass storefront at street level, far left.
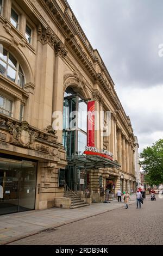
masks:
{"label": "large dark-framed glass storefront at street level, far left", "polygon": [[35,209],[37,163],[0,157],[0,215]]}

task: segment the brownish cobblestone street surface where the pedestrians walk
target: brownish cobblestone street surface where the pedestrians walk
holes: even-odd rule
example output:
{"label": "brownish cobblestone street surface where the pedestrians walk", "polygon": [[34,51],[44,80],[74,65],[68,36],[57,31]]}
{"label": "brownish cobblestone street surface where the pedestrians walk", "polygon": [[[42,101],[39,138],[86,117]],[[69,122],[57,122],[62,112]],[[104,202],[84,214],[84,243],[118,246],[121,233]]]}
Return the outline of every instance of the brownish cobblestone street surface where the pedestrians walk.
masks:
{"label": "brownish cobblestone street surface where the pedestrians walk", "polygon": [[162,245],[163,199],[144,200],[85,220],[63,225],[10,245]]}

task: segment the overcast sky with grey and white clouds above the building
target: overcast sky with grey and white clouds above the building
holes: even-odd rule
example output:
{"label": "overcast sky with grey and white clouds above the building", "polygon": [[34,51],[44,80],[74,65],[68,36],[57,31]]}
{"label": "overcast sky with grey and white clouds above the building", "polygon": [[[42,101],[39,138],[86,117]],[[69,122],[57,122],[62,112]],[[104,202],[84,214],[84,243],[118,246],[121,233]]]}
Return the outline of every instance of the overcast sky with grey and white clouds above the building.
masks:
{"label": "overcast sky with grey and white clouds above the building", "polygon": [[163,138],[162,0],[68,0],[130,116],[139,153]]}

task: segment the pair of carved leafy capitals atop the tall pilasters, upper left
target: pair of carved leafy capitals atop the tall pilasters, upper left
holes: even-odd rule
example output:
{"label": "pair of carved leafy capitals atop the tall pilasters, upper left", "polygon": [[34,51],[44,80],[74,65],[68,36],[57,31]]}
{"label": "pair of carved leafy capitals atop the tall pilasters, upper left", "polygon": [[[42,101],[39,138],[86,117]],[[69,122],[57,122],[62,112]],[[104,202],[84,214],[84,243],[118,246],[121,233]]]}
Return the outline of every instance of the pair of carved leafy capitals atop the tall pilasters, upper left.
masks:
{"label": "pair of carved leafy capitals atop the tall pilasters, upper left", "polygon": [[67,51],[65,50],[64,44],[62,44],[58,36],[52,31],[50,27],[42,28],[42,26],[39,25],[37,29],[37,34],[39,41],[43,45],[49,44],[52,48],[54,48],[57,56],[67,56]]}

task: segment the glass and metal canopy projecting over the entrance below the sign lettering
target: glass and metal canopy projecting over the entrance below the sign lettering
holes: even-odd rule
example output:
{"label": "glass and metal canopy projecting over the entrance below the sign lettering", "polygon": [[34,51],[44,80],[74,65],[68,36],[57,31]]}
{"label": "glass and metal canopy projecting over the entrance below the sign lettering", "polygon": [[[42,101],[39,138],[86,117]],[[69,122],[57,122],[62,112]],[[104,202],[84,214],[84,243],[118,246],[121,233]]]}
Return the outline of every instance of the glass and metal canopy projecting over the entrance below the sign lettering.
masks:
{"label": "glass and metal canopy projecting over the entrance below the sign lettering", "polygon": [[120,165],[117,162],[106,159],[102,156],[97,155],[72,155],[67,159],[69,166],[76,165],[78,168],[85,169],[98,169],[107,167],[117,167]]}

